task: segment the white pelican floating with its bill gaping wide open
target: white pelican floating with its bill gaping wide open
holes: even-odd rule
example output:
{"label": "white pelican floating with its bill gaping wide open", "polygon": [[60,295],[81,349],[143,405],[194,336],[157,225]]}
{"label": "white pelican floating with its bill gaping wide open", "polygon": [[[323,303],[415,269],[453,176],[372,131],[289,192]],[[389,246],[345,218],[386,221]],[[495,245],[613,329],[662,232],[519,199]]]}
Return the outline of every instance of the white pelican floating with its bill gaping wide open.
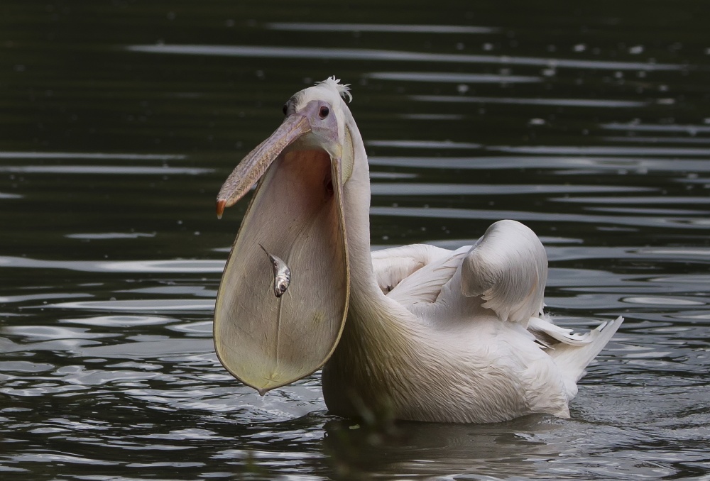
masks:
{"label": "white pelican floating with its bill gaping wide open", "polygon": [[[371,252],[367,155],[346,98],[335,77],[297,92],[219,191],[221,217],[258,182],[217,293],[219,360],[261,395],[322,368],[340,416],[569,417],[577,381],[623,319],[584,334],[552,324],[545,248],[516,221],[457,250]],[[262,248],[290,268],[281,297]]]}

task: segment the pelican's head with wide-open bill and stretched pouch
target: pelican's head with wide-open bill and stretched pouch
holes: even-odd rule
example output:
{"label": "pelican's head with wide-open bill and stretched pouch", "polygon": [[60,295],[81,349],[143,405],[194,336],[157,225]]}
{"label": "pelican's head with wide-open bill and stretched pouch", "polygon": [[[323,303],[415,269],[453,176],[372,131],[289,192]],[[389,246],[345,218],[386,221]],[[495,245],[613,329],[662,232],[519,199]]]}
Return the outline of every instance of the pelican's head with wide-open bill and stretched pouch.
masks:
{"label": "pelican's head with wide-open bill and stretched pouch", "polygon": [[[258,182],[229,253],[214,313],[214,343],[232,375],[265,394],[319,369],[335,349],[349,301],[343,187],[356,126],[334,77],[297,92],[283,123],[229,175],[217,216]],[[273,291],[283,259],[288,290]]]}

